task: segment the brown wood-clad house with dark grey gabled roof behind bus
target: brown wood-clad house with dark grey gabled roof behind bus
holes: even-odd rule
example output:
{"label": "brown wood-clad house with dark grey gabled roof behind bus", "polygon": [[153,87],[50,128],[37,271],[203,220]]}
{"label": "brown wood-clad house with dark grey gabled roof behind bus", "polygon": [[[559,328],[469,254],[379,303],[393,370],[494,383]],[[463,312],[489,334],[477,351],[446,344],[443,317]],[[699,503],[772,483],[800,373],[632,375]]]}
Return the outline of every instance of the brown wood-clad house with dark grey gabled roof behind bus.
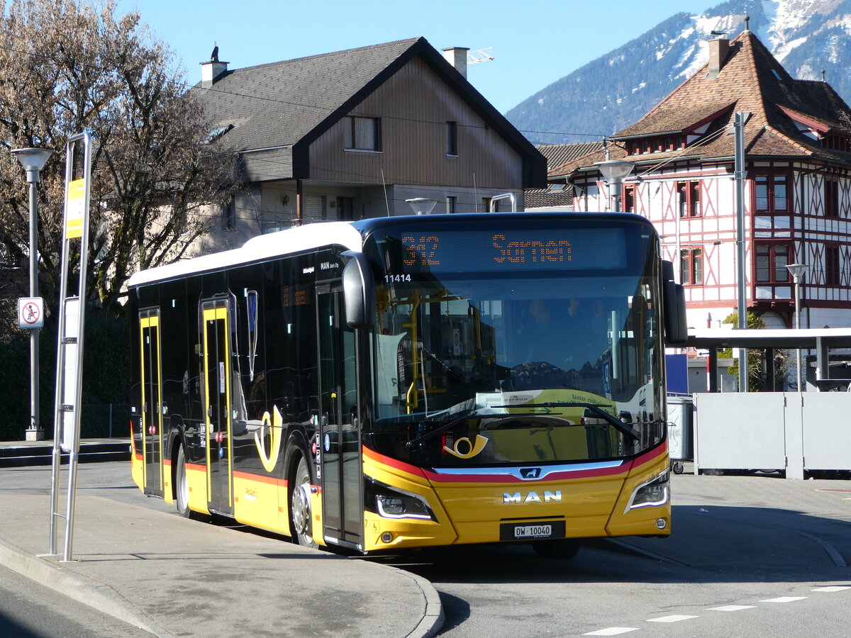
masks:
{"label": "brown wood-clad house with dark grey gabled roof behind bus", "polygon": [[214,50],[192,90],[211,137],[238,154],[244,189],[203,252],[291,225],[412,214],[414,197],[468,213],[511,192],[523,210],[523,189],[546,184],[545,159],[467,82],[466,49],[445,54],[418,37],[228,70]]}

